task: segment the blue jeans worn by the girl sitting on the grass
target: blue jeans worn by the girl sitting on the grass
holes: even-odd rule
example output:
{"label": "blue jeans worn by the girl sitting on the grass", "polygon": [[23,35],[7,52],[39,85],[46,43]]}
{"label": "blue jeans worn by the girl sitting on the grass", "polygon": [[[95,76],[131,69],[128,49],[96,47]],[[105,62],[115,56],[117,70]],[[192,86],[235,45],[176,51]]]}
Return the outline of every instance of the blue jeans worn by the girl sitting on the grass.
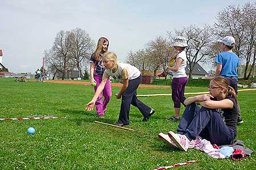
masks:
{"label": "blue jeans worn by the girl sitting on the grass", "polygon": [[177,133],[186,135],[190,140],[200,136],[218,146],[232,144],[233,131],[226,126],[216,109],[199,108],[195,103],[187,105],[177,127]]}

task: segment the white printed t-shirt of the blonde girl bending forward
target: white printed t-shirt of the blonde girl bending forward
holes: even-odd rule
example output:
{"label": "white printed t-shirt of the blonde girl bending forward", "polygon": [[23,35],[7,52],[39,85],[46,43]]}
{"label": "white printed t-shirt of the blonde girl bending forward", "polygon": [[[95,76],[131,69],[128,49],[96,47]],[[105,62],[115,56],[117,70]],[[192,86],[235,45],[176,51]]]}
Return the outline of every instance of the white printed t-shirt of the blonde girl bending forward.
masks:
{"label": "white printed t-shirt of the blonde girl bending forward", "polygon": [[141,75],[141,71],[139,71],[139,69],[128,63],[118,62],[117,64],[117,71],[115,71],[115,73],[112,73],[112,70],[110,69],[105,70],[103,74],[103,79],[108,79],[109,76],[112,76],[115,80],[123,83],[123,79],[128,78],[128,80],[133,80]]}

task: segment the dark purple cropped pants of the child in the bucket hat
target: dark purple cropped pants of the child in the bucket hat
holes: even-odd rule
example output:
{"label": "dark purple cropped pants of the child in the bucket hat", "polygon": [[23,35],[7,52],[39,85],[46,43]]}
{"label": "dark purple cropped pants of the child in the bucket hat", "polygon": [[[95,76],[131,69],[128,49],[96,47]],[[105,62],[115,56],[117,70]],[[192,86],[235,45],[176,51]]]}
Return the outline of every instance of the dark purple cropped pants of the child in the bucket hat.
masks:
{"label": "dark purple cropped pants of the child in the bucket hat", "polygon": [[186,97],[184,96],[184,92],[187,82],[187,77],[172,79],[172,101],[174,101],[175,108],[180,108],[180,103],[184,105],[184,101],[186,99]]}

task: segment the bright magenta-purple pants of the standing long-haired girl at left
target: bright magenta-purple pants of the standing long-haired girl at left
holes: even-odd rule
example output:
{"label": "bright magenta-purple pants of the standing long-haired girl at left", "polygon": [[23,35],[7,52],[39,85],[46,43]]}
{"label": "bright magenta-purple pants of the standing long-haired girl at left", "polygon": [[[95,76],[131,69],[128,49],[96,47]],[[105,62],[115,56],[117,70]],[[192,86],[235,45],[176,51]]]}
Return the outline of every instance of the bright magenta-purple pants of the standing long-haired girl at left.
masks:
{"label": "bright magenta-purple pants of the standing long-haired girl at left", "polygon": [[[96,80],[96,83],[97,83],[96,86],[94,87],[94,92],[96,92],[98,86],[102,81],[102,75],[94,74],[93,76],[94,76],[94,80]],[[104,96],[103,102],[102,102],[102,94]],[[111,84],[110,84],[110,80],[108,79],[102,93],[98,96],[98,99],[96,100],[96,103],[95,103],[96,112],[98,115],[104,115],[111,96],[112,96]]]}

